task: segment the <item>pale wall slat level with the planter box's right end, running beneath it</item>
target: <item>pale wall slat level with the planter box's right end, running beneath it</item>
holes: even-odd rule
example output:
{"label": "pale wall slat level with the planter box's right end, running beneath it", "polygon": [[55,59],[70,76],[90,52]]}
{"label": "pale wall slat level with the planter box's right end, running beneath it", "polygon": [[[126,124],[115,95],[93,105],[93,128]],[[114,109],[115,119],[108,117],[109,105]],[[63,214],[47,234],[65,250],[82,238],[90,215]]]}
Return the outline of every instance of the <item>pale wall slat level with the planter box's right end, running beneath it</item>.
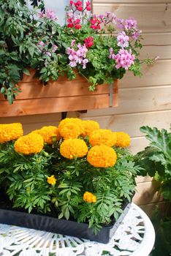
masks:
{"label": "pale wall slat level with the planter box's right end, running beneath it", "polygon": [[171,109],[171,86],[119,89],[118,108],[89,110],[81,118]]}

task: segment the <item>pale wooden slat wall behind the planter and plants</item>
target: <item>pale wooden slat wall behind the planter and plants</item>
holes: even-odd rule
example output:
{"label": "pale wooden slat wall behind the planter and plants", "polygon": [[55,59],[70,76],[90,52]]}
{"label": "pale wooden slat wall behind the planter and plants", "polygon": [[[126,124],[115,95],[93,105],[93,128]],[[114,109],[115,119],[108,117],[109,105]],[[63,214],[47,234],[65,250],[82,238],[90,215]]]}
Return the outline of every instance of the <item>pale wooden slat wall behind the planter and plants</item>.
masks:
{"label": "pale wooden slat wall behind the planter and plants", "polygon": [[[169,129],[171,122],[171,0],[93,0],[94,13],[115,12],[118,18],[134,17],[144,37],[141,58],[159,56],[151,67],[142,67],[142,78],[132,73],[119,84],[118,108],[88,110],[88,113],[71,112],[69,116],[99,121],[102,128],[124,130],[132,136],[133,153],[142,150],[148,141],[140,132],[142,125]],[[0,118],[0,123],[20,121],[25,132],[43,125],[58,125],[61,115],[23,116]],[[158,184],[150,177],[137,178],[134,202],[151,213],[155,204],[162,206],[156,192]]]}

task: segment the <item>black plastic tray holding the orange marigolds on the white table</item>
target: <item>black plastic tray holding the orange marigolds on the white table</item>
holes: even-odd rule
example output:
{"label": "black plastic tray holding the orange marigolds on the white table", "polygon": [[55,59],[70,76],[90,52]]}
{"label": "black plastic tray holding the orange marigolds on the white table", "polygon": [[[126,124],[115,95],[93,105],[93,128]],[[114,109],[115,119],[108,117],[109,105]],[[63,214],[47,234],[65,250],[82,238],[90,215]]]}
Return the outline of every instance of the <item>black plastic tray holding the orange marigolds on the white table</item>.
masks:
{"label": "black plastic tray holding the orange marigolds on the white table", "polygon": [[[124,214],[129,211],[129,202],[123,204]],[[119,221],[123,219],[121,214]],[[7,225],[16,225],[20,227],[45,230],[47,232],[59,233],[67,236],[76,236],[92,241],[98,241],[107,244],[115,233],[117,226],[115,220],[111,225],[103,225],[102,229],[94,235],[87,223],[78,223],[72,220],[57,219],[43,214],[28,214],[22,211],[15,211],[0,208],[0,223]]]}

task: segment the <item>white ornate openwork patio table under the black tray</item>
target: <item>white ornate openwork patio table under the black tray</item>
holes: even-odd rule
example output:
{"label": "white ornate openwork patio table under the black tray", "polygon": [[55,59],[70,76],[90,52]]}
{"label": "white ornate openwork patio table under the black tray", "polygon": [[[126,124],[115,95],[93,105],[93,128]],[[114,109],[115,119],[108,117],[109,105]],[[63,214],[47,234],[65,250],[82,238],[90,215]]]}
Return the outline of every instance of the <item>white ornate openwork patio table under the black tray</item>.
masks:
{"label": "white ornate openwork patio table under the black tray", "polygon": [[[124,213],[123,213],[124,214]],[[121,220],[122,219],[122,220]],[[155,233],[147,215],[134,203],[115,223],[110,243],[101,244],[40,230],[0,224],[0,256],[148,256]]]}

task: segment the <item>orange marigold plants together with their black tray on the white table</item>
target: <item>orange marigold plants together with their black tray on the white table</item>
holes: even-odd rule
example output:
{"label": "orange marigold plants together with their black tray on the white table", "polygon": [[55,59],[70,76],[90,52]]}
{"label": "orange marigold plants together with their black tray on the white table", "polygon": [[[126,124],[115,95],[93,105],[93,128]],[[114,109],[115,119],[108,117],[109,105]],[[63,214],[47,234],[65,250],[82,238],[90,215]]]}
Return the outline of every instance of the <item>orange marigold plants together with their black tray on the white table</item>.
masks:
{"label": "orange marigold plants together with their black tray on the white table", "polygon": [[128,134],[65,118],[25,136],[1,124],[0,143],[1,223],[109,241],[139,171]]}

